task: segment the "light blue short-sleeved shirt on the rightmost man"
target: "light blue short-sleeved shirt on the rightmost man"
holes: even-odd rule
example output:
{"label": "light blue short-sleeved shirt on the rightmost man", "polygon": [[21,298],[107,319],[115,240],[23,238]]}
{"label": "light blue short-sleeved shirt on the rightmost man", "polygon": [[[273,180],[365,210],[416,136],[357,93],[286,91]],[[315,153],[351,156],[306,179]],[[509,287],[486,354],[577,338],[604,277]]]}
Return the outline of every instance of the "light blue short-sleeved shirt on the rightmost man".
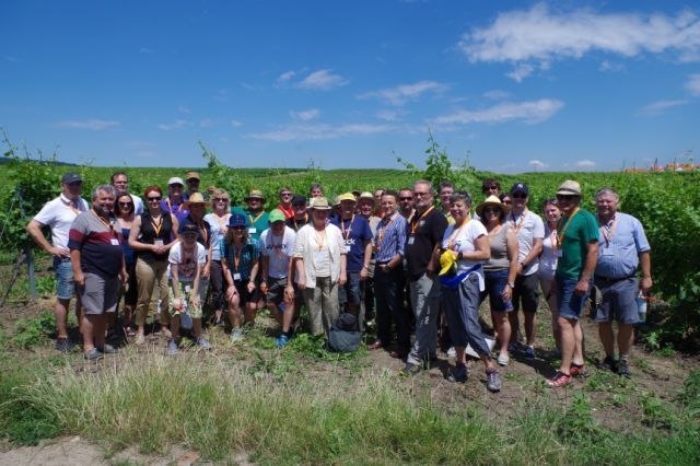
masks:
{"label": "light blue short-sleeved shirt on the rightmost man", "polygon": [[639,254],[651,251],[642,223],[628,213],[616,212],[607,224],[598,218],[598,226],[595,275],[605,278],[633,275],[639,267]]}

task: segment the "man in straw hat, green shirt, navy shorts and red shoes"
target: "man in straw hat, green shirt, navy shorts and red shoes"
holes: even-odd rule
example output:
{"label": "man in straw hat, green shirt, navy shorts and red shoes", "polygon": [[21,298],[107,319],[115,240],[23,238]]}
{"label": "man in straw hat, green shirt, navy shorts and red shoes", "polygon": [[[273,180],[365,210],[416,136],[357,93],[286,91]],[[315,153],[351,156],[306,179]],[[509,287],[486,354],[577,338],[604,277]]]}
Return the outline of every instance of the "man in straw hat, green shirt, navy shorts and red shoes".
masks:
{"label": "man in straw hat, green shirt, navy shorts and red shoes", "polygon": [[557,226],[559,260],[555,275],[561,365],[555,376],[547,380],[550,387],[569,385],[573,376],[586,371],[580,319],[598,260],[598,223],[591,212],[580,208],[581,198],[581,185],[570,179],[557,190],[557,203],[562,212]]}

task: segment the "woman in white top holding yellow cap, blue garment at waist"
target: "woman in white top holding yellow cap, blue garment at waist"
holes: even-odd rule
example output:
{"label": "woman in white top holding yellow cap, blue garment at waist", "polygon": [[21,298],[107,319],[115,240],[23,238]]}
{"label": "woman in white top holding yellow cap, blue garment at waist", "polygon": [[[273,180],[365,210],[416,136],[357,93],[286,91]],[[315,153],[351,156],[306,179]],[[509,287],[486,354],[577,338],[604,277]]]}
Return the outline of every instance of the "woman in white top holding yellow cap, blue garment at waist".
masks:
{"label": "woman in white top holding yellow cap, blue garment at waist", "polygon": [[450,322],[450,334],[455,345],[455,369],[451,382],[467,381],[465,350],[467,345],[479,356],[487,373],[487,388],[501,389],[501,376],[491,361],[489,346],[479,325],[480,291],[483,287],[483,264],[489,259],[488,233],[481,222],[469,214],[471,198],[466,191],[450,197],[450,213],[455,223],[445,230],[440,255],[442,306]]}

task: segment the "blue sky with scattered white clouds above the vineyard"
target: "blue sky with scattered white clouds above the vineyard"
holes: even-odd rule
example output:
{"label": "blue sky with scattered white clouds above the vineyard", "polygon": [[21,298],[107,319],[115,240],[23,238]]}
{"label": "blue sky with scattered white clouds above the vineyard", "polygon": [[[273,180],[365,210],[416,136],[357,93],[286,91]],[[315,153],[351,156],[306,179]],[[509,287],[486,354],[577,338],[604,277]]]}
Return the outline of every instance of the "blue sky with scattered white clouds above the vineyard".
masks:
{"label": "blue sky with scattered white clouds above the vineyard", "polygon": [[697,158],[700,5],[5,0],[0,125],[66,162],[502,173]]}

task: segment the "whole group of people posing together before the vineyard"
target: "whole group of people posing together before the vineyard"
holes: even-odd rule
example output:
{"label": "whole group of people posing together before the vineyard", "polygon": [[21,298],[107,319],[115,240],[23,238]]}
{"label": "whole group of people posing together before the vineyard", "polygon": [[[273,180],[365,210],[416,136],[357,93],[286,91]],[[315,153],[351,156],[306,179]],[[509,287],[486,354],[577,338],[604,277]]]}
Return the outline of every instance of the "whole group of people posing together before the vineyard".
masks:
{"label": "whole group of people posing together before the vineyard", "polygon": [[[172,177],[166,191],[147,187],[141,199],[119,172],[88,202],[81,176],[62,176],[60,196],[26,228],[54,257],[58,350],[72,347],[67,316],[73,296],[88,360],[118,351],[105,335],[121,301],[124,329],[136,345],[145,343],[148,318],[158,314],[168,354],[179,351],[183,329],[198,347],[211,348],[202,334],[208,296],[211,324],[230,327],[232,341],[243,339],[267,307],[279,323],[278,348],[299,329],[305,305],[314,336],[327,339],[339,316],[350,313],[358,331],[376,326],[368,348],[404,359],[404,374],[421,372],[440,346],[452,347],[450,380],[466,382],[468,353],[483,362],[487,388],[499,392],[498,366],[513,356],[537,357],[544,295],[561,354],[547,384],[562,387],[587,371],[580,322],[595,288],[602,295],[593,310],[606,352],[602,364],[630,375],[637,298],[652,287],[650,246],[640,222],[618,211],[611,188],[596,193],[594,214],[581,208],[579,183],[567,180],[544,202],[542,221],[528,208],[526,184],[503,191],[492,178],[483,180],[481,202],[450,182],[433,187],[420,179],[332,201],[320,185],[312,185],[308,196],[282,187],[269,211],[260,190],[232,207],[229,193],[211,187],[202,194],[199,182],[189,172],[186,180]],[[487,296],[495,342],[483,334],[478,313]]]}

